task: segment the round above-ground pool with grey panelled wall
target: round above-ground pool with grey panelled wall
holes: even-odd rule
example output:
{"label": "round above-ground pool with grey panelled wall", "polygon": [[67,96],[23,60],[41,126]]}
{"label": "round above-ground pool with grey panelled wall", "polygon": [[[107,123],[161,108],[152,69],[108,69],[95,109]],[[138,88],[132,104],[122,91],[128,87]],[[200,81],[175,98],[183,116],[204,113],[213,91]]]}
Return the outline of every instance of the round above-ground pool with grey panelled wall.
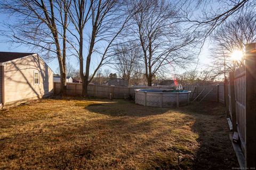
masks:
{"label": "round above-ground pool with grey panelled wall", "polygon": [[188,90],[138,89],[135,104],[154,107],[179,107],[189,104]]}

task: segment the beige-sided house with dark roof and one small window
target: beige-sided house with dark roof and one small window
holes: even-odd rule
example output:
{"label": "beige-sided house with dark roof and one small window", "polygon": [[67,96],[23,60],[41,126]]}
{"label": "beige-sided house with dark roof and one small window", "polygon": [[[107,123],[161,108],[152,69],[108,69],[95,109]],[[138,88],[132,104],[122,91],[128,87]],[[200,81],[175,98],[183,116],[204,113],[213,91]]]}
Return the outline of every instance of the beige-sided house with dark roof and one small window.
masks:
{"label": "beige-sided house with dark roof and one small window", "polygon": [[53,94],[53,71],[33,53],[0,52],[0,106]]}

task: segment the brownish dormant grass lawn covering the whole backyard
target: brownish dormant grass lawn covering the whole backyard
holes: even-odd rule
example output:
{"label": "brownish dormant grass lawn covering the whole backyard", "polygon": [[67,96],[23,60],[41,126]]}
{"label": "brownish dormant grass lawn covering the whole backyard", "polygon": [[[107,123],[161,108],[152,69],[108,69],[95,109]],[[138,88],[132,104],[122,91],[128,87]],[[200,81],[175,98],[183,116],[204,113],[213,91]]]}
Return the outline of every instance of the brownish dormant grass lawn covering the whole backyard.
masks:
{"label": "brownish dormant grass lawn covering the whole backyard", "polygon": [[0,169],[231,169],[225,108],[42,99],[0,111]]}

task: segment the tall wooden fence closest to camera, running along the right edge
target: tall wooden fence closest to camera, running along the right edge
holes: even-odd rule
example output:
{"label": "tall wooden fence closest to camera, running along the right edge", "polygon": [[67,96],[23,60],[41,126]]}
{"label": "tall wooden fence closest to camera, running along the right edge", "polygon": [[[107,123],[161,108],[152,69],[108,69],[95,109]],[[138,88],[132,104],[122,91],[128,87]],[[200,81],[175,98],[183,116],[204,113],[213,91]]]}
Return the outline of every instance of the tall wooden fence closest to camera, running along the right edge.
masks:
{"label": "tall wooden fence closest to camera, running along the right edge", "polygon": [[243,168],[256,166],[255,45],[253,43],[246,46],[245,64],[235,72],[230,72],[229,79],[225,82],[227,113],[232,123],[233,141],[238,140],[236,143],[243,152],[243,154],[236,152],[238,162]]}

